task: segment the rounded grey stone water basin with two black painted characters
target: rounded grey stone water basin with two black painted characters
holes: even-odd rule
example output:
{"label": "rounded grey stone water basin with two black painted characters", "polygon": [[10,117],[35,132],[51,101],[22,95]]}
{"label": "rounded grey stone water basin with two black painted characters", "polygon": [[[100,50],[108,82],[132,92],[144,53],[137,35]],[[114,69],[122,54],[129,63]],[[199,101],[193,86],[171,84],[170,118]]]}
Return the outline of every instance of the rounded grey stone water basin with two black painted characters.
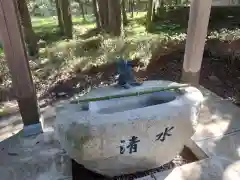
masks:
{"label": "rounded grey stone water basin with two black painted characters", "polygon": [[[146,81],[131,89],[97,88],[83,98],[179,85]],[[194,87],[135,97],[64,104],[57,109],[56,132],[69,156],[107,176],[145,171],[171,161],[194,133],[203,95]]]}

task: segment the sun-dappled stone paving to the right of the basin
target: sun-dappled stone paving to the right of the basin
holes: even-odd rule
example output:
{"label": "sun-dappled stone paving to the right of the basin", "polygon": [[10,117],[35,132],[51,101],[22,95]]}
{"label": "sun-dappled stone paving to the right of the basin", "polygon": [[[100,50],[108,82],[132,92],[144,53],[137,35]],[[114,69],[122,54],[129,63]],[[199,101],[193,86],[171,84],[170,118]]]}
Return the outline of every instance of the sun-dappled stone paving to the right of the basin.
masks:
{"label": "sun-dappled stone paving to the right of the basin", "polygon": [[[192,137],[208,159],[174,170],[155,173],[157,180],[235,180],[240,179],[240,111],[230,101],[207,89],[196,133]],[[190,145],[189,147],[192,146]],[[192,149],[196,154],[196,149]],[[200,158],[204,158],[201,157]],[[154,180],[151,176],[138,180]]]}

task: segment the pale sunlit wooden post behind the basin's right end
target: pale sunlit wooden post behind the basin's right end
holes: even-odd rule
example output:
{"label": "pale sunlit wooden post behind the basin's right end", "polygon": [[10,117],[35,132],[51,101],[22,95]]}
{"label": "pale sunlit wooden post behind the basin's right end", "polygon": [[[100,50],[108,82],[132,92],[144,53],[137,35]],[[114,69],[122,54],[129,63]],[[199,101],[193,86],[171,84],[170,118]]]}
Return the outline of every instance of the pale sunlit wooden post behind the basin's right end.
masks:
{"label": "pale sunlit wooden post behind the basin's right end", "polygon": [[198,86],[212,0],[192,0],[182,81]]}

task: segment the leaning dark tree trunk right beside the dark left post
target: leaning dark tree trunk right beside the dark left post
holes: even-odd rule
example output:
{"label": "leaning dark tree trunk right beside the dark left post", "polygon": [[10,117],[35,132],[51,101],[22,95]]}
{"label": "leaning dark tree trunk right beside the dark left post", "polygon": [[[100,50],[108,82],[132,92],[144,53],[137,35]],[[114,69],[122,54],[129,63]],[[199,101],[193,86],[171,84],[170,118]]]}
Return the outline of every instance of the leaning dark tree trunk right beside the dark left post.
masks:
{"label": "leaning dark tree trunk right beside the dark left post", "polygon": [[31,17],[28,11],[25,0],[18,0],[18,10],[20,14],[20,23],[23,28],[23,34],[28,46],[29,55],[34,56],[38,54],[38,39],[33,31]]}

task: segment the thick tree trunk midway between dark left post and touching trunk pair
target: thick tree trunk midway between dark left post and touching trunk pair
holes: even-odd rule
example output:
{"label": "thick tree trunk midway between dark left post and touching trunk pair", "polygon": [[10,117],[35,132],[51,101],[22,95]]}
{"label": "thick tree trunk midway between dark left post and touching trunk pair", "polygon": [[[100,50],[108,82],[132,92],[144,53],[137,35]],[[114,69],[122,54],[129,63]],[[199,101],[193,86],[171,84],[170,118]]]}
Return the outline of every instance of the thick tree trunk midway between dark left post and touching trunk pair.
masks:
{"label": "thick tree trunk midway between dark left post and touching trunk pair", "polygon": [[72,39],[72,15],[71,15],[71,9],[70,4],[68,0],[60,0],[60,9],[62,14],[62,20],[64,24],[64,35]]}

